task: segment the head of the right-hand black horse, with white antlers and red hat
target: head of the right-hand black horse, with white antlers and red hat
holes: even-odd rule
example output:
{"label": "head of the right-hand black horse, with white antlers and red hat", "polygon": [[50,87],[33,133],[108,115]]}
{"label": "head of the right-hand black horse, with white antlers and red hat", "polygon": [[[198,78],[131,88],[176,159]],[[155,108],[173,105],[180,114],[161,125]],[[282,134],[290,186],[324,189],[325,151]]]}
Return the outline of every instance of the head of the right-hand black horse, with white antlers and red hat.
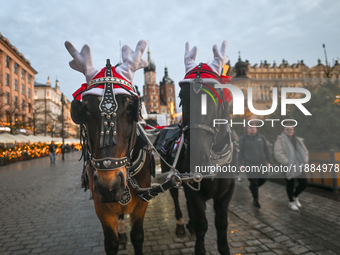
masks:
{"label": "head of the right-hand black horse, with white antlers and red hat", "polygon": [[220,74],[223,66],[228,62],[225,55],[227,44],[227,41],[224,41],[221,48],[214,45],[214,60],[210,64],[198,65],[195,63],[196,46],[192,49],[189,43],[185,46],[186,75],[179,82],[181,87],[179,96],[187,148],[185,158],[190,162],[191,172],[195,171],[195,166],[214,165],[212,148],[219,150],[219,147],[222,148],[228,142],[224,141],[224,145],[219,145],[218,139],[224,137],[228,131],[213,126],[214,119],[229,119],[230,97],[226,94],[228,92],[215,88],[215,84],[221,84],[226,79]]}

